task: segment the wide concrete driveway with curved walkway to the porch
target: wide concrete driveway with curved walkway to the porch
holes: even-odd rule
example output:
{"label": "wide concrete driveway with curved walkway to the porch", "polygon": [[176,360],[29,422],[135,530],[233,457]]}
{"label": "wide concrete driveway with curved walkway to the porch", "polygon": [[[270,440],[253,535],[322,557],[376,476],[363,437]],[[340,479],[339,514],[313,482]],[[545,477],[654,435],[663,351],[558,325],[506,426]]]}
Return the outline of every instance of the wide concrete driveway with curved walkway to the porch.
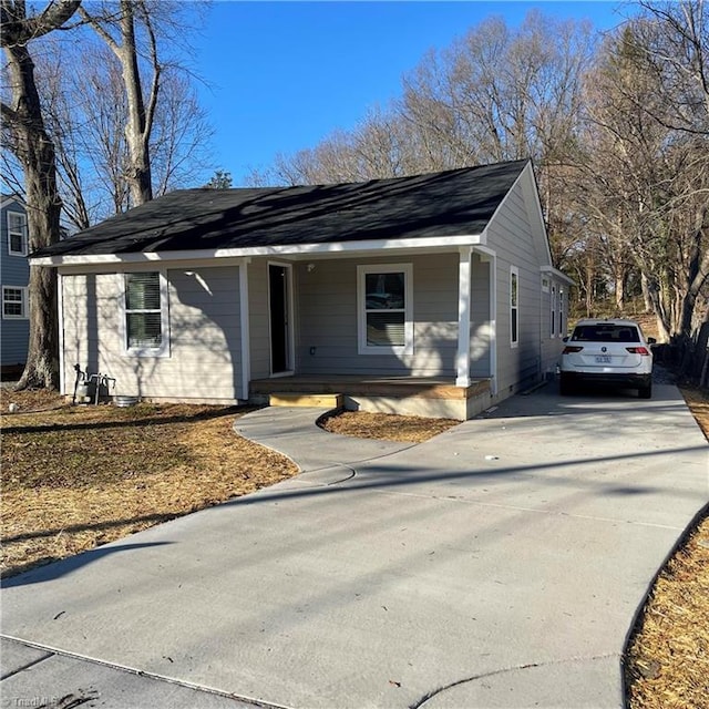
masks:
{"label": "wide concrete driveway with curved walkway to the porch", "polygon": [[327,434],[317,413],[237,422],[298,477],[9,579],[3,697],[623,705],[634,616],[709,499],[677,389],[548,386],[421,445]]}

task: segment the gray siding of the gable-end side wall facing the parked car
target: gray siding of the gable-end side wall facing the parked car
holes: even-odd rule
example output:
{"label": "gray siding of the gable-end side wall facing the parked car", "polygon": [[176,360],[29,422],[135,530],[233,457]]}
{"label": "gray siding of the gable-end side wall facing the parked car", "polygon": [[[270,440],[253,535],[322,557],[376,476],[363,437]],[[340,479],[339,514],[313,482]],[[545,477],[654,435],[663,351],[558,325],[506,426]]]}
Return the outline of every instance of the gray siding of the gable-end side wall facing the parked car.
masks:
{"label": "gray siding of the gable-end side wall facing the parked car", "polygon": [[[497,254],[497,388],[500,395],[531,383],[542,372],[542,275],[537,243],[517,184],[489,225],[487,245]],[[518,269],[518,345],[511,345],[510,269]]]}

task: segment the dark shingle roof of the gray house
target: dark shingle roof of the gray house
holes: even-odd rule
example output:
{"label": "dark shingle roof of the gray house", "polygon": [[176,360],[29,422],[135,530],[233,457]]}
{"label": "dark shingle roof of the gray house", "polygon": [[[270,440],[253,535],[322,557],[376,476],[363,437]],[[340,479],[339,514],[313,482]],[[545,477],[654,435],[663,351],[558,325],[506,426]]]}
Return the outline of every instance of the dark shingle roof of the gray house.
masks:
{"label": "dark shingle roof of the gray house", "polygon": [[527,161],[366,183],[179,189],[33,256],[480,234]]}

